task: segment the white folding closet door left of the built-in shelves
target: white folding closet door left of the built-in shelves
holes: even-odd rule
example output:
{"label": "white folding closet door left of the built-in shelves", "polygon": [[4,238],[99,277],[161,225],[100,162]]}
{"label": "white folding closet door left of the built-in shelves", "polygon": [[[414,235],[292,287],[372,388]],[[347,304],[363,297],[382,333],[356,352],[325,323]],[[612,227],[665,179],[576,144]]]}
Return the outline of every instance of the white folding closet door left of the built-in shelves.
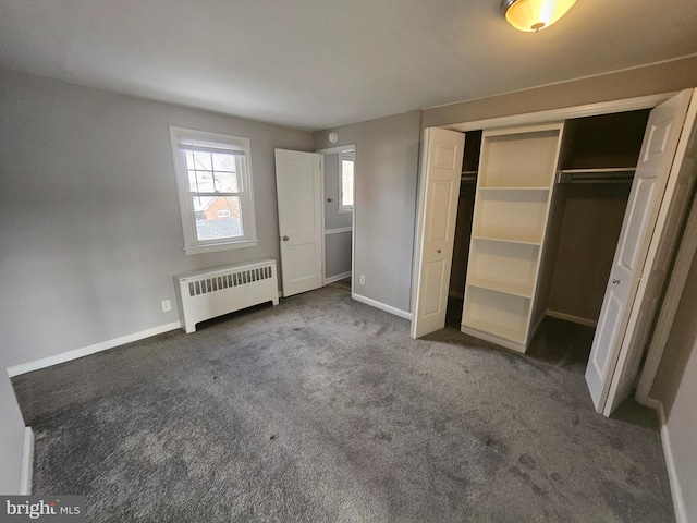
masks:
{"label": "white folding closet door left of the built-in shelves", "polygon": [[412,337],[445,327],[448,288],[465,135],[429,127],[424,135]]}

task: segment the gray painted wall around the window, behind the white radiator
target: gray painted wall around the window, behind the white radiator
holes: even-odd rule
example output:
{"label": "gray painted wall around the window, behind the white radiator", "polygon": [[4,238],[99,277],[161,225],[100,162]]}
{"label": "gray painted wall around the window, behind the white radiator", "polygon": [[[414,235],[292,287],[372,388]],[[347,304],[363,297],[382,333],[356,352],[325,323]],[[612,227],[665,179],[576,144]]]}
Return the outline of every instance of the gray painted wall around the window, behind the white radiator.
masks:
{"label": "gray painted wall around the window, behind the white radiator", "polygon": [[[0,93],[8,365],[176,321],[180,271],[279,259],[273,148],[310,133],[9,71]],[[170,125],[250,138],[257,247],[184,254]]]}

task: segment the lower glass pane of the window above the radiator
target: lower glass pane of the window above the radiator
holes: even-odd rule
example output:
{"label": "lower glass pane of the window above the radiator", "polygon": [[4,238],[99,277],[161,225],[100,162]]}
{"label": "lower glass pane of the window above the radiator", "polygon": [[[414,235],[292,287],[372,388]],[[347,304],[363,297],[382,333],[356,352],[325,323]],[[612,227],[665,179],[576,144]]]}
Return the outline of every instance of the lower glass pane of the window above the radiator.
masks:
{"label": "lower glass pane of the window above the radiator", "polygon": [[193,198],[198,241],[244,236],[239,196]]}

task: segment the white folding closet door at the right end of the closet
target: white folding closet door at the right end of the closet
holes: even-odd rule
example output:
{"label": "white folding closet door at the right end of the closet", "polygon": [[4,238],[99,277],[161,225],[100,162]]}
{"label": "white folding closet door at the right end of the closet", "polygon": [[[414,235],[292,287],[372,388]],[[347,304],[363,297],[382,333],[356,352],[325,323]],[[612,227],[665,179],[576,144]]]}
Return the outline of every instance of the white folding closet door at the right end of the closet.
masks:
{"label": "white folding closet door at the right end of the closet", "polygon": [[[655,108],[644,136],[586,368],[586,382],[594,404],[604,415],[610,415],[631,390],[634,379],[631,367],[638,366],[662,290],[663,281],[658,275],[663,271],[664,278],[670,263],[671,250],[668,247],[674,244],[674,238],[669,239],[673,231],[668,215],[674,196],[670,187],[676,185],[676,180],[671,178],[675,172],[672,167],[692,95],[692,90],[682,92]],[[682,218],[675,209],[672,214],[673,220]]]}

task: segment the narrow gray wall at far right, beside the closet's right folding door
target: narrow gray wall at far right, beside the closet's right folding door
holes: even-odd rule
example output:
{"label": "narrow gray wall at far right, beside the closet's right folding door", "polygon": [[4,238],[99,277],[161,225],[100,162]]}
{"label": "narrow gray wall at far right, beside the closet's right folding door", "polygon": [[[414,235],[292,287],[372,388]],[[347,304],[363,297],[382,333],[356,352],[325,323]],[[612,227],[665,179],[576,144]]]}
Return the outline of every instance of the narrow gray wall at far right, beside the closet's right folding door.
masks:
{"label": "narrow gray wall at far right, beside the closet's right folding door", "polygon": [[665,343],[651,398],[665,408],[675,472],[687,521],[697,521],[697,257],[693,260],[675,320]]}

